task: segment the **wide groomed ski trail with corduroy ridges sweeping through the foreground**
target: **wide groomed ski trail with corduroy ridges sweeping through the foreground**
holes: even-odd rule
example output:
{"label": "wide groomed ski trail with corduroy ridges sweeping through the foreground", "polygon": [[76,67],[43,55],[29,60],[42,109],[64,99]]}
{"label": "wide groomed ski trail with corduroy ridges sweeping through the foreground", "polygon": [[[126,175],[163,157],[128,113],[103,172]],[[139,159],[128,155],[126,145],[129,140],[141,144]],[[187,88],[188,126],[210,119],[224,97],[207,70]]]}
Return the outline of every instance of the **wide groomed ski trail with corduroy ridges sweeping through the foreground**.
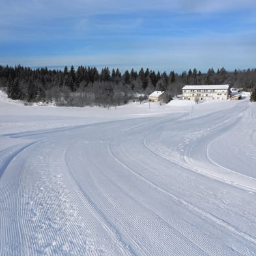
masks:
{"label": "wide groomed ski trail with corduroy ridges sweeping through the foreground", "polygon": [[[180,116],[13,135],[44,141],[5,158],[0,200],[8,210],[0,218],[0,254],[253,255],[255,236],[200,207],[203,201],[184,199],[175,180],[168,184],[175,177],[169,171],[177,178],[187,171],[195,183],[200,178],[149,141],[182,127]],[[186,189],[185,175],[177,181]],[[206,199],[211,192],[204,192]]]}

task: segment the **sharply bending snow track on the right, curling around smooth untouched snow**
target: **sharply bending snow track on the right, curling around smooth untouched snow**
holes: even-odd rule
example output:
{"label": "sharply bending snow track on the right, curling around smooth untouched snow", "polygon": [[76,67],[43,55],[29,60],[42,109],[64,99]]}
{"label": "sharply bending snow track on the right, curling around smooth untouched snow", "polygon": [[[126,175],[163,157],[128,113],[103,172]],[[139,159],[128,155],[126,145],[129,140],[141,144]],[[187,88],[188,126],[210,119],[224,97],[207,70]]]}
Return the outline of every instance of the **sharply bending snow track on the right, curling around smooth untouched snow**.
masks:
{"label": "sharply bending snow track on the right, curling around smooth untouched snow", "polygon": [[[243,111],[246,111],[246,109],[243,109]],[[217,114],[214,113],[214,115]],[[154,146],[152,146],[152,143],[152,145],[150,145],[148,139],[150,136],[154,136],[154,130],[153,132],[150,132],[147,136],[145,136],[143,144],[149,150],[154,152],[154,154],[175,164],[178,164],[186,169],[190,169],[197,173],[206,175],[207,177],[220,180],[227,184],[231,184],[232,186],[238,186],[239,188],[243,188],[251,192],[256,192],[255,178],[242,175],[241,173],[237,173],[231,169],[228,169],[227,167],[224,167],[223,165],[218,164],[217,162],[212,160],[208,150],[212,141],[218,138],[220,134],[225,134],[225,132],[229,131],[230,128],[235,125],[238,126],[238,121],[240,121],[241,117],[242,113],[239,117],[234,117],[233,115],[231,115],[229,119],[227,119],[226,115],[223,115],[222,119],[218,119],[218,122],[216,122],[215,124],[214,122],[212,122],[212,127],[210,128],[210,130],[208,130],[208,128],[205,129],[206,134],[205,132],[203,132],[202,135],[195,135],[195,140],[190,139],[190,142],[187,143],[188,145],[186,146],[186,149],[182,150],[183,153],[180,154],[180,156],[170,156],[162,152],[162,150],[155,149]],[[202,119],[202,117],[200,117],[199,119]],[[194,149],[196,149],[196,151]],[[194,155],[192,155],[192,153]]]}

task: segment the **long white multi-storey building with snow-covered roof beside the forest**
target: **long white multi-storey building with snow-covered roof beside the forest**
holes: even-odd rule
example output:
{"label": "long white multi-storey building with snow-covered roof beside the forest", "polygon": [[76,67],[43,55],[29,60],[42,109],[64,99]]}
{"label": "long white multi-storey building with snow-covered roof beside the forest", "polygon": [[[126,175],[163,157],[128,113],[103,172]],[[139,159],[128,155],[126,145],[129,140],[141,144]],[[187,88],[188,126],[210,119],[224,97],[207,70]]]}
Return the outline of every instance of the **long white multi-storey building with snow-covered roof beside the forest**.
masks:
{"label": "long white multi-storey building with snow-covered roof beside the forest", "polygon": [[229,85],[184,85],[183,100],[227,100]]}

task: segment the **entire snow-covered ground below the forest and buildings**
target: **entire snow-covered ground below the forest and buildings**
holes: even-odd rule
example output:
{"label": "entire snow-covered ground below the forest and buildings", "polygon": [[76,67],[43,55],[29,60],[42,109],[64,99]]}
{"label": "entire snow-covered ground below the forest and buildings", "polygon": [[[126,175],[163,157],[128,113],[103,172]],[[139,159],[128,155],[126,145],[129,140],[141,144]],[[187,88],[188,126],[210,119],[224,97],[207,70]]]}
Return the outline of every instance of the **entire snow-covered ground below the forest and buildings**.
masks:
{"label": "entire snow-covered ground below the forest and buildings", "polygon": [[256,255],[256,105],[23,106],[0,93],[0,255]]}

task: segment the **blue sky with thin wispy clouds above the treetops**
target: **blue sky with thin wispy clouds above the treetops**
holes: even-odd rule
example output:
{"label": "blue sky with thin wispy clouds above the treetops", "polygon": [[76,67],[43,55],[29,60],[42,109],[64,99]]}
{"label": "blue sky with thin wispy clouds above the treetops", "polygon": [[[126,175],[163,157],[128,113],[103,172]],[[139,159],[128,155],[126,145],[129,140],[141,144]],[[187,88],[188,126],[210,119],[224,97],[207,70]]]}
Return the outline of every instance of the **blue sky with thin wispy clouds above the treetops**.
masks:
{"label": "blue sky with thin wispy clouds above the treetops", "polygon": [[0,0],[0,64],[256,67],[255,0]]}

